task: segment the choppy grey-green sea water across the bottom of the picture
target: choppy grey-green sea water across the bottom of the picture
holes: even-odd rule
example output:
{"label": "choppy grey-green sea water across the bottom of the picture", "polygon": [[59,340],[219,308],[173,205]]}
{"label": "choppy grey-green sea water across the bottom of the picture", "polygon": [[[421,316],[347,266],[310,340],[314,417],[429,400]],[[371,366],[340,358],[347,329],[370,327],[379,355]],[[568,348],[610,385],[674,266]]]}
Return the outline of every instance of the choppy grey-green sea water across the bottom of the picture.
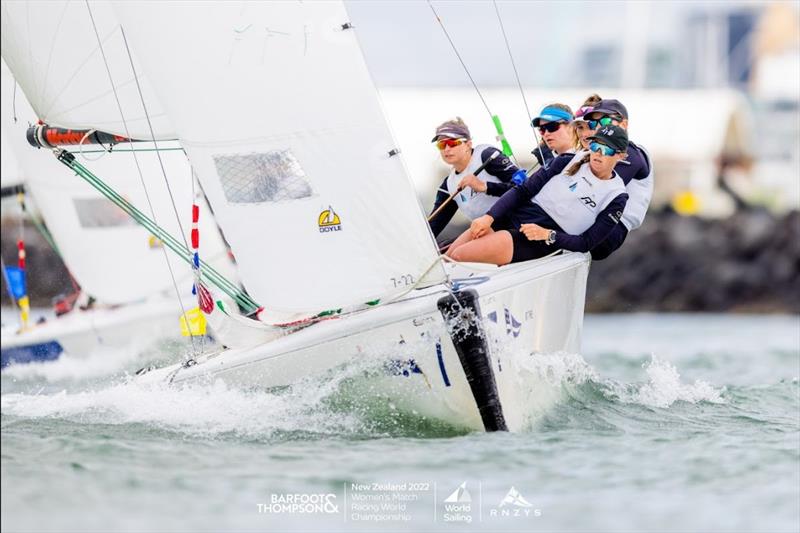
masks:
{"label": "choppy grey-green sea water across the bottom of the picture", "polygon": [[145,388],[169,354],[134,352],[3,371],[3,531],[800,529],[797,316],[587,316],[515,434],[353,409],[358,369]]}

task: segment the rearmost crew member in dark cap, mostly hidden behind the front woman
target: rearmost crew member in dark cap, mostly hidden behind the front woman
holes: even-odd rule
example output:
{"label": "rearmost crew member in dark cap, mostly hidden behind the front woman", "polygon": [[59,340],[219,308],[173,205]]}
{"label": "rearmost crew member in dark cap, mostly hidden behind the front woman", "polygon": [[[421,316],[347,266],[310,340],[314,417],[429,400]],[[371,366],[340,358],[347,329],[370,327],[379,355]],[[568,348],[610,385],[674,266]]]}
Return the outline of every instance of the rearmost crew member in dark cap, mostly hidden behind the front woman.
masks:
{"label": "rearmost crew member in dark cap, mostly hidden behind the front woman", "polygon": [[[628,129],[628,110],[619,100],[600,100],[584,115],[589,128],[594,130],[607,125]],[[650,156],[641,146],[628,143],[628,157],[616,167],[616,172],[625,182],[628,203],[622,213],[622,224],[618,224],[608,238],[592,250],[592,259],[605,259],[622,246],[630,231],[644,222],[650,199],[653,196],[653,166]]]}

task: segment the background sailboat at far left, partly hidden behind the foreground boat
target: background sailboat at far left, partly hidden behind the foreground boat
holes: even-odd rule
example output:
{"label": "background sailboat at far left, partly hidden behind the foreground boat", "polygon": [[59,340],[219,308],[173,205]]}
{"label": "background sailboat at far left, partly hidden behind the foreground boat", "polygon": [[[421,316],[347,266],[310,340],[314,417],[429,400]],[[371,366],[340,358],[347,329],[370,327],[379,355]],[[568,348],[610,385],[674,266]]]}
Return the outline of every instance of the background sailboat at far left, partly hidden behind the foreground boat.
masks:
{"label": "background sailboat at far left, partly hidden behind the foreground boat", "polygon": [[[52,156],[34,150],[26,141],[26,131],[35,124],[37,114],[25,94],[14,94],[14,80],[5,63],[0,82],[4,156],[16,160],[26,199],[36,205],[42,229],[80,286],[83,296],[79,299],[84,300],[70,302],[72,305],[45,321],[7,324],[2,331],[2,367],[49,361],[64,353],[81,358],[98,349],[144,349],[158,341],[180,338],[179,318],[196,305],[191,295],[191,269],[165,256],[157,238],[99,192],[65,175]],[[147,148],[139,148],[143,151],[138,164],[144,170],[154,212],[177,232],[178,225],[169,216],[170,197],[159,183],[158,161],[152,151],[144,151]],[[93,165],[110,176],[109,182],[121,194],[145,203],[131,154],[124,150],[108,154],[96,146],[81,149],[83,157],[94,160]],[[171,173],[184,177],[171,188],[176,208],[188,215],[192,203],[201,201],[194,198],[188,162],[182,151],[174,149],[164,150],[161,161]],[[213,218],[207,216],[200,222],[208,259],[234,276]],[[169,268],[165,261],[170,261]],[[176,297],[170,269],[184,305]]]}

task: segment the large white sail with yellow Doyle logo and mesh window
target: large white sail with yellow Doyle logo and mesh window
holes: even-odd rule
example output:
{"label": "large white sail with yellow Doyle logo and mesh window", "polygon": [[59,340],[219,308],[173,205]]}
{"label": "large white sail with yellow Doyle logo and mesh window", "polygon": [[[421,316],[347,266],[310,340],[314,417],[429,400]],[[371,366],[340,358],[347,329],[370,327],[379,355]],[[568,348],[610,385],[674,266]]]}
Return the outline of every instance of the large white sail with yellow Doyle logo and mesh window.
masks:
{"label": "large white sail with yellow Doyle logo and mesh window", "polygon": [[114,8],[274,320],[444,279],[341,2]]}

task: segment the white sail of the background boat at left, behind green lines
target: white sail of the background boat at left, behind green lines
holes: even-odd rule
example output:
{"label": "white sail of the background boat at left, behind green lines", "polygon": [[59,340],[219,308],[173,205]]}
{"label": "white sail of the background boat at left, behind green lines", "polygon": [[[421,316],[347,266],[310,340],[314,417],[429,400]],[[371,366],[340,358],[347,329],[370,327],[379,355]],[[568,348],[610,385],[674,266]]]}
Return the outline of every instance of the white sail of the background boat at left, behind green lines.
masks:
{"label": "white sail of the background boat at left, behind green lines", "polygon": [[[17,91],[12,106],[14,80],[5,63],[0,80],[0,101],[3,104],[0,124],[4,144],[8,142],[11,154],[19,163],[26,190],[33,197],[64,262],[82,289],[105,304],[141,301],[160,292],[174,294],[161,243],[88,183],[72,175],[48,150],[37,150],[27,143],[25,131],[28,124],[35,122],[36,115],[22,91]],[[16,123],[13,121],[14,111],[18,117]],[[144,146],[148,143],[137,144],[137,147]],[[86,164],[123,197],[149,214],[133,155],[123,151],[127,148],[127,145],[119,146],[121,151],[99,154],[99,159]],[[97,147],[84,147],[84,150],[92,149]],[[3,158],[11,154],[7,154],[4,146]],[[80,159],[81,156],[77,157]],[[91,153],[86,157],[98,158],[98,154]],[[155,152],[140,152],[138,159],[158,222],[180,239],[181,231]],[[170,188],[184,234],[188,234],[193,197],[191,170],[186,156],[181,151],[169,151],[162,152],[161,159],[167,175],[172,178]],[[207,208],[200,218],[200,233],[203,259],[223,275],[233,277],[234,269],[227,257],[226,246]],[[168,257],[178,289],[188,293],[192,286],[189,266],[172,254]],[[186,300],[187,305],[190,302]]]}

